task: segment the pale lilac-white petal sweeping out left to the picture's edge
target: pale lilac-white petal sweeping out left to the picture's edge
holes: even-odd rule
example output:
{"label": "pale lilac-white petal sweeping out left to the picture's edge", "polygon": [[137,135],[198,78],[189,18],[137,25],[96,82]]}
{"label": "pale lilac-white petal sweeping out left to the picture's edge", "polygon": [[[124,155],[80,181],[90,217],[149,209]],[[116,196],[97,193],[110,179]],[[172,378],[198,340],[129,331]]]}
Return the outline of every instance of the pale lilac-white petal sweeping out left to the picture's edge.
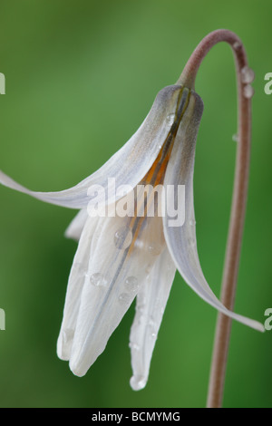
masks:
{"label": "pale lilac-white petal sweeping out left to the picture's edge", "polygon": [[[34,198],[66,208],[87,208],[91,200],[88,189],[98,185],[107,189],[107,192],[106,197],[102,192],[99,197],[95,198],[96,202],[112,203],[118,199],[118,197],[115,198],[115,188],[121,185],[129,185],[134,188],[151,169],[151,165],[156,160],[170,131],[172,124],[170,119],[176,111],[180,87],[173,85],[162,89],[139,130],[100,169],[83,179],[75,187],[57,192],[36,192],[16,183],[1,170],[0,183]],[[114,184],[111,181],[111,185],[108,187],[109,178],[114,178],[115,181]]]}

